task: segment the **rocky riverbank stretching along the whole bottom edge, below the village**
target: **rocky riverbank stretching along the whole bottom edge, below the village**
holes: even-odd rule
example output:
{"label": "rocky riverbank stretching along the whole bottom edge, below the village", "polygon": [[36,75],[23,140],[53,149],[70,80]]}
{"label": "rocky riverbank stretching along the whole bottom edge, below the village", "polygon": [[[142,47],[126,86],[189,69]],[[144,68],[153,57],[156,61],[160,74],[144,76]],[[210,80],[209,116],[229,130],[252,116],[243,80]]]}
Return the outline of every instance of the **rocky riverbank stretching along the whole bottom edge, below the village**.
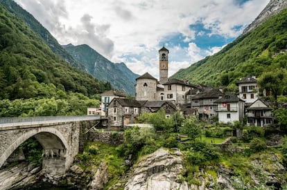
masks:
{"label": "rocky riverbank stretching along the whole bottom edge, below the village", "polygon": [[[234,165],[242,164],[234,160]],[[109,182],[109,164],[104,160],[98,167],[83,170],[73,166],[60,179],[49,178],[39,167],[22,162],[15,167],[0,171],[0,189],[22,189],[48,182],[54,187],[65,186],[73,189],[104,189]],[[123,178],[111,185],[110,189],[252,189],[261,187],[275,189],[286,186],[286,168],[283,160],[272,151],[259,153],[248,158],[245,171],[228,167],[222,162],[207,164],[188,173],[183,154],[179,149],[158,149],[150,155],[143,156],[133,164]],[[187,178],[192,176],[192,178]]]}

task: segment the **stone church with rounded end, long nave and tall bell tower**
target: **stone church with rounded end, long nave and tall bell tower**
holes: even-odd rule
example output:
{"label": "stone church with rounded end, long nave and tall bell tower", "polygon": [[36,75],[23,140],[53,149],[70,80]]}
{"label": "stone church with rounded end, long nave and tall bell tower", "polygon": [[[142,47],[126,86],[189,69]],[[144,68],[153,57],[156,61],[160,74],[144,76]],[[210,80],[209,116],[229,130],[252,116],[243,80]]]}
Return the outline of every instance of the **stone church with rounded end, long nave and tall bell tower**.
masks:
{"label": "stone church with rounded end, long nave and tall bell tower", "polygon": [[165,47],[159,50],[159,81],[149,73],[136,79],[136,100],[172,101],[177,105],[190,102],[188,93],[196,86],[187,81],[168,79],[168,53]]}

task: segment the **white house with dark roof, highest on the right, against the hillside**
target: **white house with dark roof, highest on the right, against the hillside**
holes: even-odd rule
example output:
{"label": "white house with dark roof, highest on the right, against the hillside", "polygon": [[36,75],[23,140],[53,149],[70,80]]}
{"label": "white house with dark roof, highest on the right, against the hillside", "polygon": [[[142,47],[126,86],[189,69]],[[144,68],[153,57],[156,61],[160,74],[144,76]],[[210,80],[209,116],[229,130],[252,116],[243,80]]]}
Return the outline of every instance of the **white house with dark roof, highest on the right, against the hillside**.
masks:
{"label": "white house with dark roof, highest on the right, against the hillside", "polygon": [[258,99],[259,87],[256,77],[245,77],[236,82],[239,88],[239,98],[243,99],[246,104],[251,104]]}

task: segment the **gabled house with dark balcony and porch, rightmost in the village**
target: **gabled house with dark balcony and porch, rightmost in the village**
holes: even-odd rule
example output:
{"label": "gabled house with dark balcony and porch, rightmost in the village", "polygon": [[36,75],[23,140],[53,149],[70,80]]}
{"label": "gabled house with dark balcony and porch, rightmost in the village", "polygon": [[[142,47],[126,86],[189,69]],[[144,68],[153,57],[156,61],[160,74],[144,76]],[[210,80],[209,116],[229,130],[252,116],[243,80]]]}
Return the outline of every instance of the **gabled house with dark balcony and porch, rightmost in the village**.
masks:
{"label": "gabled house with dark balcony and porch, rightmost in the village", "polygon": [[263,99],[257,99],[246,108],[247,125],[268,126],[273,123],[272,108]]}

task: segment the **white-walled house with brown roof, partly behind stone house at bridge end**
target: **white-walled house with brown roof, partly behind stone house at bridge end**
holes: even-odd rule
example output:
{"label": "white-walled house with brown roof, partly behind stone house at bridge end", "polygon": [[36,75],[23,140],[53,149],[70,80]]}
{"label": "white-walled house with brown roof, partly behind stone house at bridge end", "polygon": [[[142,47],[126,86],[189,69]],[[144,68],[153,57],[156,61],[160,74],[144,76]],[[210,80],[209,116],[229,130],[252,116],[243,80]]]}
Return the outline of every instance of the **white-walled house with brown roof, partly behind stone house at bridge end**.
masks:
{"label": "white-walled house with brown roof, partly behind stone house at bridge end", "polygon": [[122,91],[111,90],[101,94],[101,117],[107,117],[107,106],[114,98],[125,98]]}

